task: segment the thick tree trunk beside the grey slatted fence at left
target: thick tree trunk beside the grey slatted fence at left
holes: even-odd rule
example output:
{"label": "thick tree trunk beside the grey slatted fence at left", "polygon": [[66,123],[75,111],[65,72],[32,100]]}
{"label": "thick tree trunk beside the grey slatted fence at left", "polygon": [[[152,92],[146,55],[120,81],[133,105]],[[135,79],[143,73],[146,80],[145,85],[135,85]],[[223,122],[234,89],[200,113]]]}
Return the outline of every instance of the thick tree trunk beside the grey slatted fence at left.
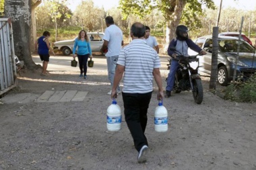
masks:
{"label": "thick tree trunk beside the grey slatted fence at left", "polygon": [[30,54],[31,0],[5,0],[5,17],[11,17],[15,55],[28,69],[38,66]]}

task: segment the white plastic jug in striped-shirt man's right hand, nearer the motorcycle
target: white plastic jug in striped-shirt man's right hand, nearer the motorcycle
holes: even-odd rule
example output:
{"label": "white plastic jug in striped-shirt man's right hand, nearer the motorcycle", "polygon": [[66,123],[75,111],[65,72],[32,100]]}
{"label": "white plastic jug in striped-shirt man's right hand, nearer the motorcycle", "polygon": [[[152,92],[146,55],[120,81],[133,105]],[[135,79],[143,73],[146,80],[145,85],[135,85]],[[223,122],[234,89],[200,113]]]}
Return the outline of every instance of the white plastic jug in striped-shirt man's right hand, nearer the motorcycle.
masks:
{"label": "white plastic jug in striped-shirt man's right hand, nearer the motorcycle", "polygon": [[162,101],[159,101],[156,107],[154,124],[156,132],[166,132],[168,130],[168,112],[162,105]]}

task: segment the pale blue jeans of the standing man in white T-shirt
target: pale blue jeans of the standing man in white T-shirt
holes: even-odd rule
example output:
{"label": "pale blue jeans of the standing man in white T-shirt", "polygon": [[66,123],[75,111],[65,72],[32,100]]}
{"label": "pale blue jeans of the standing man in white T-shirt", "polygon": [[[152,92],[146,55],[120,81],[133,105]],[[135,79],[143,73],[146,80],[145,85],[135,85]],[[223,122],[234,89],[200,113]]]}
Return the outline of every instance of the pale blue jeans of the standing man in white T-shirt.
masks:
{"label": "pale blue jeans of the standing man in white T-shirt", "polygon": [[[113,87],[115,71],[117,67],[118,56],[106,57],[106,65],[108,66],[108,80],[110,81],[111,87]],[[117,91],[120,91],[120,86],[117,86]]]}

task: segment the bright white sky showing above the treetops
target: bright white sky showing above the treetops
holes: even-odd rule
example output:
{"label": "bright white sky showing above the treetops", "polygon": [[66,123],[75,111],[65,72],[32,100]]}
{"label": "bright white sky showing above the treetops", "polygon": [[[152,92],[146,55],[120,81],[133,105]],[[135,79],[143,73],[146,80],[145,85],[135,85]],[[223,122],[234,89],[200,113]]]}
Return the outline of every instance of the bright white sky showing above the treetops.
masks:
{"label": "bright white sky showing above the treetops", "polygon": [[[68,0],[71,4],[71,11],[75,10],[75,7],[82,2],[82,0]],[[108,10],[112,7],[117,7],[119,5],[119,0],[93,0],[94,6],[104,7]],[[220,0],[214,0],[216,6],[220,6]],[[222,7],[235,7],[236,9],[246,9],[246,10],[256,10],[256,0],[222,0]]]}

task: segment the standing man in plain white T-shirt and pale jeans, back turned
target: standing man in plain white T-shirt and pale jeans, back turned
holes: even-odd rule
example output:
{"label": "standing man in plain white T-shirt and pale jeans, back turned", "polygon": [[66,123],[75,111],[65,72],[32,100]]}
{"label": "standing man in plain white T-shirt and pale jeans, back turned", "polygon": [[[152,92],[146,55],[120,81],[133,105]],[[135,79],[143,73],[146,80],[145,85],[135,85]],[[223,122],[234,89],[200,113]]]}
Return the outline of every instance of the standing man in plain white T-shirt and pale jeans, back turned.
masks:
{"label": "standing man in plain white T-shirt and pale jeans, back turned", "polygon": [[[106,30],[104,32],[104,43],[101,52],[106,52],[106,64],[108,67],[108,80],[110,81],[111,87],[113,87],[113,81],[115,76],[115,70],[117,67],[117,60],[121,48],[123,46],[123,32],[115,25],[114,19],[111,16],[105,18]],[[120,86],[117,87],[117,92],[121,93]],[[111,95],[111,91],[108,92]]]}

